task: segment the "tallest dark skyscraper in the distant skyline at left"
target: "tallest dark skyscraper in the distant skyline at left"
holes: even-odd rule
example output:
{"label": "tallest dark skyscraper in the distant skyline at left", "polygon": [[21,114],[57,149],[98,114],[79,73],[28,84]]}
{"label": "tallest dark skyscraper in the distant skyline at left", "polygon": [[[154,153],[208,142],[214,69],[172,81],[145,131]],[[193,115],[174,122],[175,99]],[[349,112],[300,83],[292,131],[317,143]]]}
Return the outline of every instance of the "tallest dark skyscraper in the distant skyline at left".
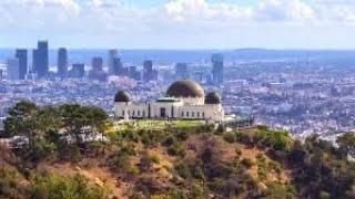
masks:
{"label": "tallest dark skyscraper in the distant skyline at left", "polygon": [[38,76],[45,77],[49,71],[48,42],[39,41],[33,50],[33,69]]}

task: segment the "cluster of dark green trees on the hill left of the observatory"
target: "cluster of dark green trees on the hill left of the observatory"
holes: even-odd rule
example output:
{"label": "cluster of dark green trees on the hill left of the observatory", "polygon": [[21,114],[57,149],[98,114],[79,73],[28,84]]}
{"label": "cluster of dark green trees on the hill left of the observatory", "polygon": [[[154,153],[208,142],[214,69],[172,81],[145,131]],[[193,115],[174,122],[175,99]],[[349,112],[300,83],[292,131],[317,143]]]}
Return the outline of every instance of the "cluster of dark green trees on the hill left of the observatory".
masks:
{"label": "cluster of dark green trees on the hill left of the observatory", "polygon": [[94,133],[102,134],[106,124],[108,115],[99,107],[79,104],[38,107],[23,101],[9,109],[4,136],[27,137],[28,147],[22,150],[39,160],[55,153],[64,157],[88,148],[90,142],[84,139]]}

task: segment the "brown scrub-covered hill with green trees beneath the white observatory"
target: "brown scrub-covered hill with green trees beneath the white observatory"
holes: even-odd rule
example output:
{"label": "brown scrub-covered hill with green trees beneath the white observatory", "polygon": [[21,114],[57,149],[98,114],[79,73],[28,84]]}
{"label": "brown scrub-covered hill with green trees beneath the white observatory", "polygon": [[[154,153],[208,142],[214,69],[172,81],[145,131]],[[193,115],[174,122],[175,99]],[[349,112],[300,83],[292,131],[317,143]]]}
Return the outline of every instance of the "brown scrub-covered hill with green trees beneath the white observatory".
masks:
{"label": "brown scrub-covered hill with green trees beneath the white observatory", "polygon": [[[265,126],[116,123],[97,107],[17,104],[1,145],[1,198],[354,198],[355,136],[335,148]],[[82,132],[82,128],[90,129]],[[83,135],[85,134],[85,135]],[[100,134],[100,139],[89,139]],[[12,146],[12,147],[11,147]]]}

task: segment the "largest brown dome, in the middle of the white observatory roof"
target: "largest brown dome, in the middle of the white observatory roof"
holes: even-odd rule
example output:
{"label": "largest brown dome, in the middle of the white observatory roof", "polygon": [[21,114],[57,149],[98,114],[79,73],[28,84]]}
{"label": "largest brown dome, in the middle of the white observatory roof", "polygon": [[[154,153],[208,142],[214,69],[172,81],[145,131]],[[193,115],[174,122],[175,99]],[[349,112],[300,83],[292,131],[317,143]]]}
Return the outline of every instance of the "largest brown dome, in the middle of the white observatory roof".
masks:
{"label": "largest brown dome, in the middle of the white observatory roof", "polygon": [[190,80],[173,83],[166,91],[166,96],[176,98],[204,97],[204,91],[200,84]]}

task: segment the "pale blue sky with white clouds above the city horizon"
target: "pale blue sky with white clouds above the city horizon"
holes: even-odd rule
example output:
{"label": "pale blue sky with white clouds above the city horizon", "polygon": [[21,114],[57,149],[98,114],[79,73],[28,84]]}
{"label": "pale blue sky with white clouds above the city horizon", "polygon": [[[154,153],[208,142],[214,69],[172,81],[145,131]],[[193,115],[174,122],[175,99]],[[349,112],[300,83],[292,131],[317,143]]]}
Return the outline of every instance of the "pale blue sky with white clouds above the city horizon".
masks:
{"label": "pale blue sky with white clouds above the city horizon", "polygon": [[355,0],[0,0],[0,46],[355,49]]}

